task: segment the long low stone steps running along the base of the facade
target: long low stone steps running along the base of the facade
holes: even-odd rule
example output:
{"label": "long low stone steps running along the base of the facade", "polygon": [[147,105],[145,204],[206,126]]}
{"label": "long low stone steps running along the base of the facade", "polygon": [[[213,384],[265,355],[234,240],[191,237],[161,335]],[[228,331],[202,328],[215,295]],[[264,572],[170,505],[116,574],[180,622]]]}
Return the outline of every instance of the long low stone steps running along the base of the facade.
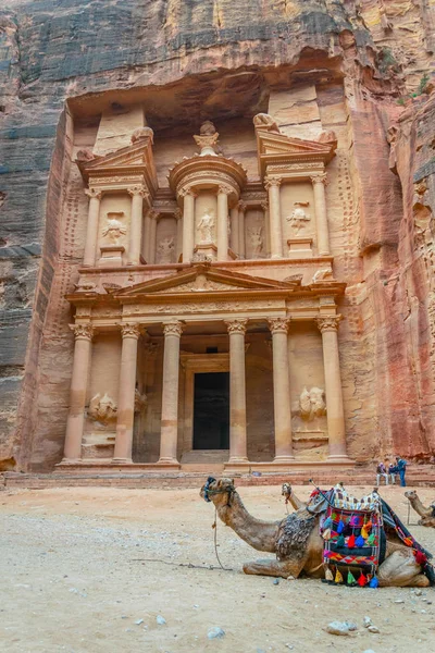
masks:
{"label": "long low stone steps running along the base of the facade", "polygon": [[[209,475],[222,476],[220,465],[212,466],[203,471],[195,469],[191,465],[189,471],[116,471],[96,473],[91,471],[58,471],[53,473],[18,473],[4,472],[0,475],[0,489],[27,488],[40,490],[45,488],[132,488],[132,489],[169,489],[169,488],[197,488],[199,489]],[[236,485],[281,485],[289,482],[293,485],[310,484],[311,473],[313,481],[323,488],[331,488],[343,481],[345,485],[374,486],[376,475],[372,469],[356,467],[346,470],[296,470],[291,472],[260,472],[226,475],[235,479]],[[415,466],[407,471],[407,483],[411,488],[435,488],[435,466]],[[382,485],[384,486],[384,484]]]}

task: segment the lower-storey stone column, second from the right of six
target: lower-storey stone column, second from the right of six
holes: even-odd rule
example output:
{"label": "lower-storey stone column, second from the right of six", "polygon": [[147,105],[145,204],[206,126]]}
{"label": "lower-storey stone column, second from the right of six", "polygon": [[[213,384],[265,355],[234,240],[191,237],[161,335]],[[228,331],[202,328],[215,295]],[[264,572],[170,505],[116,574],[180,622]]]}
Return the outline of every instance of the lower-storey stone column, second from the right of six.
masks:
{"label": "lower-storey stone column, second from the right of six", "polygon": [[285,318],[271,318],[273,353],[273,407],[275,418],[274,463],[294,460],[291,445],[290,378],[288,368],[287,333],[290,321]]}

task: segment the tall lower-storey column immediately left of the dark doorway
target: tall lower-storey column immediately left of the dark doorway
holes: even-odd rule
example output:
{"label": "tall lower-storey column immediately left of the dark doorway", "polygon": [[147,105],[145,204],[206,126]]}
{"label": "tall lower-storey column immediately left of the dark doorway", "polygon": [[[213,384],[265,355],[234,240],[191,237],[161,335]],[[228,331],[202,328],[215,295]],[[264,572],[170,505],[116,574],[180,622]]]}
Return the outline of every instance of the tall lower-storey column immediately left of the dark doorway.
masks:
{"label": "tall lower-storey column immediately left of the dark doorway", "polygon": [[182,331],[183,324],[178,320],[163,325],[163,393],[159,458],[162,465],[178,465],[178,374]]}

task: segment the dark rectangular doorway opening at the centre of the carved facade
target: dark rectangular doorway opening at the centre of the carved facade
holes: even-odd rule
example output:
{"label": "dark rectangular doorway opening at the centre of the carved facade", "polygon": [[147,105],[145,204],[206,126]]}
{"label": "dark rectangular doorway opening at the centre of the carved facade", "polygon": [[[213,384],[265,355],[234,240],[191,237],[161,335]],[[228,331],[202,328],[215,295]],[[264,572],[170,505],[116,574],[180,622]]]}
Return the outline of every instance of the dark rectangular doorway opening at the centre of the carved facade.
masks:
{"label": "dark rectangular doorway opening at the centre of the carved facade", "polygon": [[229,372],[195,374],[194,449],[229,448]]}

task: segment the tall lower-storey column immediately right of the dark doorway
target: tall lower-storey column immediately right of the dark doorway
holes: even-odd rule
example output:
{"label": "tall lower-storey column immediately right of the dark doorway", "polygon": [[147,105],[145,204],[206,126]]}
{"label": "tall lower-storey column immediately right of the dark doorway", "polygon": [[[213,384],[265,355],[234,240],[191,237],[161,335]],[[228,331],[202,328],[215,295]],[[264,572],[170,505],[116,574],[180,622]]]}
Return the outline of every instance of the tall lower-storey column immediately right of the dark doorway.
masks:
{"label": "tall lower-storey column immediately right of the dark doorway", "polygon": [[229,333],[229,464],[248,463],[245,333],[248,320],[226,321]]}

